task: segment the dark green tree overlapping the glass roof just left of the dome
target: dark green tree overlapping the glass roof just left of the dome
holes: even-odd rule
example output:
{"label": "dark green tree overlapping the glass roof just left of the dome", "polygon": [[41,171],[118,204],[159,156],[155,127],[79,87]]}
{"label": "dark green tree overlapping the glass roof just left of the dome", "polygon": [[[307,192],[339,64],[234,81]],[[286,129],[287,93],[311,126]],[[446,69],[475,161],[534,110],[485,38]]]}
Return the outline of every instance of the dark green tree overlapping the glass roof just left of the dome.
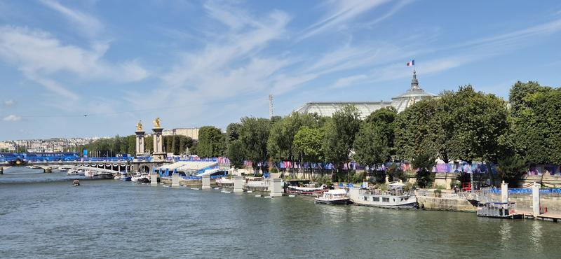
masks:
{"label": "dark green tree overlapping the glass roof just left of the dome", "polygon": [[393,121],[396,119],[395,109],[379,109],[370,114],[354,141],[355,155],[353,158],[370,169],[374,165],[391,160],[393,154]]}

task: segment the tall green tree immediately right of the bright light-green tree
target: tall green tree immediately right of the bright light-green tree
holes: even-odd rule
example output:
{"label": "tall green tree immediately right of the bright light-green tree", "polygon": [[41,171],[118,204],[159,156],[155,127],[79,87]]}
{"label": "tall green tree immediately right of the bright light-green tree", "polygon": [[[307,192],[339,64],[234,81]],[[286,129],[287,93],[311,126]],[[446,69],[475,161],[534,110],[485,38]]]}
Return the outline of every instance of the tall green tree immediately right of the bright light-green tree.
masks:
{"label": "tall green tree immediately right of the bright light-green tree", "polygon": [[325,127],[322,149],[325,159],[337,165],[337,171],[343,169],[343,163],[349,162],[355,135],[360,129],[360,117],[355,106],[344,106],[335,111]]}

